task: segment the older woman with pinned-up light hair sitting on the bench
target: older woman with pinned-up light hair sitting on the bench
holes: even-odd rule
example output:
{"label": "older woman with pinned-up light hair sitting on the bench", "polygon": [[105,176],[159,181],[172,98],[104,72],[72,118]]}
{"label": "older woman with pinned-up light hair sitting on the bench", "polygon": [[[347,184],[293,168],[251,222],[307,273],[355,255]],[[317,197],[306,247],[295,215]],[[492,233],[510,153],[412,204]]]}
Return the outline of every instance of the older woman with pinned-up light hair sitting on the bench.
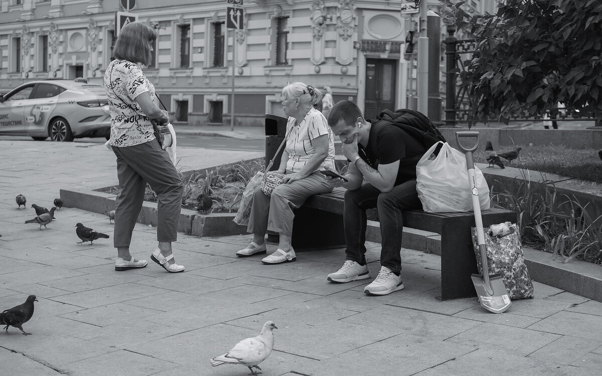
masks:
{"label": "older woman with pinned-up light hair sitting on the bench", "polygon": [[265,195],[253,194],[247,232],[253,241],[236,254],[239,257],[266,253],[265,232],[278,232],[278,249],[261,260],[264,264],[282,264],[296,259],[291,247],[293,209],[299,208],[309,196],[332,191],[319,172],[335,169],[334,135],[320,111],[313,107],[322,93],[312,85],[295,82],[282,89],[282,107],[288,116],[286,146],[280,167],[275,172],[285,174],[282,184]]}

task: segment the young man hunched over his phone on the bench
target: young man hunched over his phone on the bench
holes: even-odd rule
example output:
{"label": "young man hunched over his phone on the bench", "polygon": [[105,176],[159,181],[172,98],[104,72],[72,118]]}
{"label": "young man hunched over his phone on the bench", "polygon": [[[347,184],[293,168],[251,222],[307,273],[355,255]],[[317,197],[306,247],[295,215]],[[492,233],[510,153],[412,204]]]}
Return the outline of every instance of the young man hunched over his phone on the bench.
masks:
{"label": "young man hunched over his phone on the bench", "polygon": [[416,191],[416,164],[426,149],[392,123],[365,120],[358,106],[349,100],[334,105],[328,124],[343,142],[343,155],[350,161],[345,176],[349,182],[327,177],[332,186],[347,188],[343,214],[346,260],[339,271],[328,275],[328,280],[344,283],[370,278],[365,259],[366,209],[377,208],[381,267],[364,292],[386,295],[401,290],[402,212],[422,209]]}

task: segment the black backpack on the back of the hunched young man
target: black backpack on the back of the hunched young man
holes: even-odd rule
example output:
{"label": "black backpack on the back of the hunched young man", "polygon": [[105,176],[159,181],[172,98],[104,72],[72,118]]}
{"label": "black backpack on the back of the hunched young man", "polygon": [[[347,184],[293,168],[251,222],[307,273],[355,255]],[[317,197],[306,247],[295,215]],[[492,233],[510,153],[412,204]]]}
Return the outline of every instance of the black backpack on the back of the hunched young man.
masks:
{"label": "black backpack on the back of the hunched young man", "polygon": [[390,109],[383,109],[376,119],[374,124],[385,125],[386,123],[393,123],[399,126],[407,134],[420,141],[427,150],[439,141],[447,142],[430,119],[422,112],[415,111],[414,109],[400,108],[396,109],[395,112]]}

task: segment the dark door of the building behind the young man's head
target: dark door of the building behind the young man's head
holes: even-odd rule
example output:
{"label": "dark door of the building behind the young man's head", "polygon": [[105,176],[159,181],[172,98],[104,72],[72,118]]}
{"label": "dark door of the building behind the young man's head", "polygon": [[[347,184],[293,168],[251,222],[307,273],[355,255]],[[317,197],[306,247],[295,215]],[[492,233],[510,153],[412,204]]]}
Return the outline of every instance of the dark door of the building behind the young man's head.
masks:
{"label": "dark door of the building behind the young man's head", "polygon": [[365,83],[365,119],[376,119],[385,108],[395,111],[396,60],[367,59]]}

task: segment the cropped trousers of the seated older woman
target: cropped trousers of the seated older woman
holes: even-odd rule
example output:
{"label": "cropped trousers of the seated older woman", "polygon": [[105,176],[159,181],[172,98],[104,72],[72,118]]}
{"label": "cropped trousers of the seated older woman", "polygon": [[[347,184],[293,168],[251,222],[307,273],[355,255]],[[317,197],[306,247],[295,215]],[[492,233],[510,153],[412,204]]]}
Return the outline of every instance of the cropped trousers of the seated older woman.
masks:
{"label": "cropped trousers of the seated older woman", "polygon": [[247,232],[265,234],[267,230],[293,235],[293,209],[299,208],[309,196],[332,191],[324,176],[314,172],[305,179],[281,184],[267,196],[261,190],[253,194]]}

